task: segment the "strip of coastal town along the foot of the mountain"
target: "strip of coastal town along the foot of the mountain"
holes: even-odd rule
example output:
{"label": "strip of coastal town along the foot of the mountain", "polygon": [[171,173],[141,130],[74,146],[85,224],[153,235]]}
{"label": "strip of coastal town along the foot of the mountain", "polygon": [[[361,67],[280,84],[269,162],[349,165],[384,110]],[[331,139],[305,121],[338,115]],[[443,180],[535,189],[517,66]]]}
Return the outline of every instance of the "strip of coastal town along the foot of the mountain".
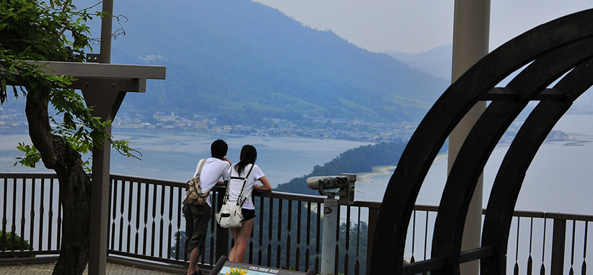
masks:
{"label": "strip of coastal town along the foot of the mountain", "polygon": [[[55,118],[60,122],[59,116]],[[176,113],[154,113],[153,116],[119,113],[114,129],[163,129],[168,131],[219,132],[252,136],[300,136],[311,139],[342,139],[364,142],[393,142],[409,139],[417,124],[368,123],[363,120],[329,119],[303,116],[289,121],[264,118],[259,125],[222,125],[215,118],[183,118]],[[0,107],[0,129],[27,129],[24,111]]]}

